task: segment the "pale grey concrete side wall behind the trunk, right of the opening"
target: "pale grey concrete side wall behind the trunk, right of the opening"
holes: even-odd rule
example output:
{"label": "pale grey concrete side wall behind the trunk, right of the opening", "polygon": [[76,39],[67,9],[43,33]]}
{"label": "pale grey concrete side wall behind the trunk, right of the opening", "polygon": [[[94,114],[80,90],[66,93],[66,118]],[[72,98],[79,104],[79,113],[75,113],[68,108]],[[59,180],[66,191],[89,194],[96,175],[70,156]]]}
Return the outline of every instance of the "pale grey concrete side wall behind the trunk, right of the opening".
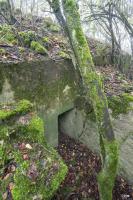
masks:
{"label": "pale grey concrete side wall behind the trunk, right of the opening", "polygon": [[[108,102],[120,153],[118,174],[133,183],[133,96],[124,93],[121,96],[109,97]],[[78,107],[62,115],[59,119],[60,129],[99,154],[95,116],[90,114],[90,120],[86,120],[86,110]]]}

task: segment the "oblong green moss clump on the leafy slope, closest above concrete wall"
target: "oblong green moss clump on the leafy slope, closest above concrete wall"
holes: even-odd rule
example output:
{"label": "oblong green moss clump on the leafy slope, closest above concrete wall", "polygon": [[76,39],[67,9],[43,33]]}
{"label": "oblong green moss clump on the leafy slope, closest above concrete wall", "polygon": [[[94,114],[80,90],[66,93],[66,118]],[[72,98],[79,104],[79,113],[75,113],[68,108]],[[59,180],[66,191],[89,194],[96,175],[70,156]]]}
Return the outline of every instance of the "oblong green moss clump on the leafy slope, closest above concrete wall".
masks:
{"label": "oblong green moss clump on the leafy slope, closest above concrete wall", "polygon": [[31,49],[35,50],[39,54],[47,54],[47,49],[43,47],[39,42],[32,41],[31,42]]}

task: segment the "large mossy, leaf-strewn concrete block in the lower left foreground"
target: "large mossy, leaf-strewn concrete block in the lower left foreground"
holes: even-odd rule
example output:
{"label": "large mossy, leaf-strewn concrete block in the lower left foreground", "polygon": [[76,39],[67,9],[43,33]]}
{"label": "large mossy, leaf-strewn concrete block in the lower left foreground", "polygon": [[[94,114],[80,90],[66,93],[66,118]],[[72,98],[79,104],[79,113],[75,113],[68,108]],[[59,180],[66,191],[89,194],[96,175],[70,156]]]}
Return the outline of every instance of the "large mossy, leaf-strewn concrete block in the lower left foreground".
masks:
{"label": "large mossy, leaf-strewn concrete block in the lower left foreground", "polygon": [[0,199],[49,200],[67,173],[28,100],[0,105]]}

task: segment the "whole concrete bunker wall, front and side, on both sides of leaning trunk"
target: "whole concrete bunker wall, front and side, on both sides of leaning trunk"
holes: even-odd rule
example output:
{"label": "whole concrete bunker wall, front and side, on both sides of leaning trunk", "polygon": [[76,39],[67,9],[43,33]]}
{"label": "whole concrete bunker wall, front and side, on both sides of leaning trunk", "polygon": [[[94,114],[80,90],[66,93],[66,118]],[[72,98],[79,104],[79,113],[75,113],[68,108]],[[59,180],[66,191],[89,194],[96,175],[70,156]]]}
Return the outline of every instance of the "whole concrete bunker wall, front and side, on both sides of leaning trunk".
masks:
{"label": "whole concrete bunker wall, front and side, on both sides of leaning trunk", "polygon": [[[30,100],[45,122],[48,143],[58,144],[60,131],[80,140],[100,153],[95,120],[86,120],[86,106],[78,95],[72,62],[62,60],[0,64],[0,102]],[[59,124],[58,124],[59,118]],[[120,145],[119,174],[133,183],[133,112],[113,119],[115,136]]]}

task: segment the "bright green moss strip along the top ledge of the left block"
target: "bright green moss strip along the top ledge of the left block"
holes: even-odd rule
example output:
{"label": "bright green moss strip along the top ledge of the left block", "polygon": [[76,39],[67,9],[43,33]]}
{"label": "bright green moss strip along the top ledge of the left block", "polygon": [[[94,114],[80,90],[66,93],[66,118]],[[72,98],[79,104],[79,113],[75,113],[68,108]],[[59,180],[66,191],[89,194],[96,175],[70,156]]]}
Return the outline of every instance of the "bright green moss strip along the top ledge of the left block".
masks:
{"label": "bright green moss strip along the top ledge of the left block", "polygon": [[0,110],[0,120],[7,120],[15,115],[25,114],[32,108],[32,104],[28,100],[21,100],[15,109],[2,109]]}

